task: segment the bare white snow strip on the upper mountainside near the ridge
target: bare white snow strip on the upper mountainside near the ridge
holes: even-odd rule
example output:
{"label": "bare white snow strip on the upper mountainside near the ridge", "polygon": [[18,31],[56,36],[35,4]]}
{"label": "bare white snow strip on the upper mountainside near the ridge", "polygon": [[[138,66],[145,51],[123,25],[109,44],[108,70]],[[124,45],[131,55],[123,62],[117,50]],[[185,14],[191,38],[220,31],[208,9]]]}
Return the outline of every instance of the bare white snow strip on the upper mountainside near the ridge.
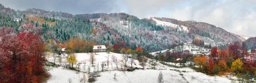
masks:
{"label": "bare white snow strip on the upper mountainside near the ridge", "polygon": [[165,21],[160,21],[160,20],[157,20],[157,19],[154,19],[154,18],[152,18],[152,20],[154,20],[156,23],[157,23],[157,25],[162,25],[162,26],[170,26],[170,27],[178,27],[178,29],[181,31],[181,30],[184,30],[184,31],[187,31],[187,32],[189,32],[189,30],[188,30],[188,27],[186,27],[186,26],[181,26],[181,27],[179,27],[179,25],[177,25],[177,24],[173,24],[173,23],[170,23],[170,22],[165,22]]}

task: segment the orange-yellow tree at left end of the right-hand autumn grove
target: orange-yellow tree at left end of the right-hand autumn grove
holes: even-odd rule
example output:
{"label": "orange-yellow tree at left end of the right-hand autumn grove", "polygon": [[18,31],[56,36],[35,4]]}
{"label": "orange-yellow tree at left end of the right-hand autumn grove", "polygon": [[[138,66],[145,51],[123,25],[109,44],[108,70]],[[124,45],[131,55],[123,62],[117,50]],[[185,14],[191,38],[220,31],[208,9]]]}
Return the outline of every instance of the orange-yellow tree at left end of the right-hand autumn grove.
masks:
{"label": "orange-yellow tree at left end of the right-hand autumn grove", "polygon": [[196,64],[197,66],[199,66],[200,69],[201,69],[201,66],[203,66],[204,64],[206,64],[207,59],[206,59],[205,56],[197,56],[197,57],[194,57],[194,61],[195,61],[195,64]]}

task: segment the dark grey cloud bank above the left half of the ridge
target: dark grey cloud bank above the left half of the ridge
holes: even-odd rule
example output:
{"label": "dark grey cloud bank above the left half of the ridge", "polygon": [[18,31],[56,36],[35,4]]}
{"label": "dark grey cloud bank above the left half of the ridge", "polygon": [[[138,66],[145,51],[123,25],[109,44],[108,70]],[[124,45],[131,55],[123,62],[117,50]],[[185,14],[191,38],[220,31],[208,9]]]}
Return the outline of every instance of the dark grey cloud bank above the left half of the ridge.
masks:
{"label": "dark grey cloud bank above the left half of the ridge", "polygon": [[113,11],[120,11],[116,9],[119,7],[116,0],[1,0],[0,3],[12,9],[26,10],[37,8],[71,14],[112,13]]}

